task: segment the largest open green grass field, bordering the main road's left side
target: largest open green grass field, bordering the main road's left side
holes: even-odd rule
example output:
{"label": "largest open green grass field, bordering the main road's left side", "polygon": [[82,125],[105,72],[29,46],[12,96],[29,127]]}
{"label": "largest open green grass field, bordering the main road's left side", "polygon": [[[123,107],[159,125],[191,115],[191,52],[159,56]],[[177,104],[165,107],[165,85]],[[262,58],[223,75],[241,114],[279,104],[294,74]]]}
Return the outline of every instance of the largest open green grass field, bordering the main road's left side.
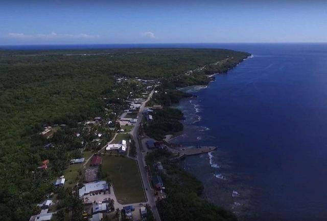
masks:
{"label": "largest open green grass field, bordering the main road's left side", "polygon": [[119,203],[129,204],[146,201],[135,160],[105,155],[102,161],[102,174],[103,177],[111,179]]}

